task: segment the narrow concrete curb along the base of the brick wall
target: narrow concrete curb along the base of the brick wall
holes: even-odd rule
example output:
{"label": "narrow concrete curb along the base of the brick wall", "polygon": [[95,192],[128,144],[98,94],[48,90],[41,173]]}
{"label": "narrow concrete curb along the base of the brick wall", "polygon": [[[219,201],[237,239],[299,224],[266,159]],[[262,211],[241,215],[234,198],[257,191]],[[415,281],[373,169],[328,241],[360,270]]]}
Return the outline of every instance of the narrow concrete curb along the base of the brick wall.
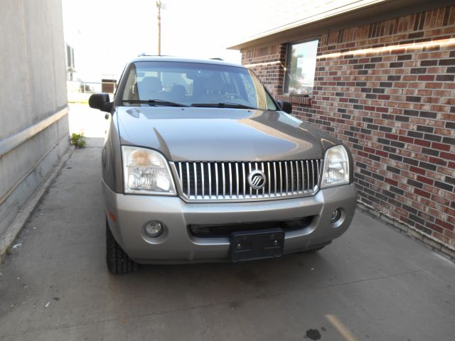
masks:
{"label": "narrow concrete curb along the base of the brick wall", "polygon": [[407,237],[410,237],[414,240],[417,240],[424,244],[425,247],[432,249],[433,251],[441,254],[441,256],[446,257],[450,261],[455,262],[455,249],[450,247],[447,244],[439,241],[438,239],[429,236],[428,234],[424,234],[423,232],[415,229],[414,227],[405,224],[403,222],[399,222],[390,216],[384,215],[383,213],[375,210],[373,207],[369,207],[365,205],[363,202],[357,202],[357,209],[360,212],[373,217],[375,220],[379,220],[380,222],[385,223],[385,225],[392,227],[396,231],[405,234]]}

